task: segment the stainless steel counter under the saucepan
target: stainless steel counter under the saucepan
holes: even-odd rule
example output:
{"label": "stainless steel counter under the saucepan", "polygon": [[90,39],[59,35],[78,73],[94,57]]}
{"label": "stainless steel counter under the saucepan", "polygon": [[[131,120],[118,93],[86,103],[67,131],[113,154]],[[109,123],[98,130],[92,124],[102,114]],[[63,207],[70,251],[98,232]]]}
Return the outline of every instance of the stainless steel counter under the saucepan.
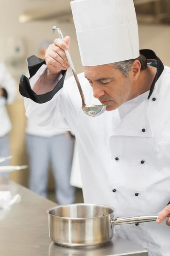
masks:
{"label": "stainless steel counter under the saucepan", "polygon": [[117,236],[94,249],[59,247],[48,236],[46,210],[55,204],[22,186],[18,186],[18,192],[21,201],[11,206],[0,220],[2,256],[148,256],[146,250]]}

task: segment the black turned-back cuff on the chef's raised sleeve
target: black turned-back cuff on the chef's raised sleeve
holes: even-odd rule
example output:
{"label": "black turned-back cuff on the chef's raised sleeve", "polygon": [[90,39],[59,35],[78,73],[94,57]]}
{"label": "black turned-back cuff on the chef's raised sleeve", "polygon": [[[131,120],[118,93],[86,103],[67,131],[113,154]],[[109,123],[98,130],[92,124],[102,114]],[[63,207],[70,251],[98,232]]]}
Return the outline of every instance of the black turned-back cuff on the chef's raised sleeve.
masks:
{"label": "black turned-back cuff on the chef's raised sleeve", "polygon": [[[37,58],[34,55],[29,57],[27,59],[27,62],[28,62],[28,70],[29,70],[30,78],[33,77],[37,73],[37,71],[40,69],[40,67],[43,64],[45,64],[45,60]],[[42,94],[42,95],[37,95],[31,89],[29,79],[26,76],[22,75],[20,78],[20,85],[19,85],[20,94],[23,97],[29,98],[29,99],[33,100],[34,102],[37,102],[40,104],[48,102],[63,87],[65,76],[66,76],[66,71],[63,70],[62,71],[62,79],[60,79],[60,81],[56,84],[54,90],[52,90],[51,92]]]}

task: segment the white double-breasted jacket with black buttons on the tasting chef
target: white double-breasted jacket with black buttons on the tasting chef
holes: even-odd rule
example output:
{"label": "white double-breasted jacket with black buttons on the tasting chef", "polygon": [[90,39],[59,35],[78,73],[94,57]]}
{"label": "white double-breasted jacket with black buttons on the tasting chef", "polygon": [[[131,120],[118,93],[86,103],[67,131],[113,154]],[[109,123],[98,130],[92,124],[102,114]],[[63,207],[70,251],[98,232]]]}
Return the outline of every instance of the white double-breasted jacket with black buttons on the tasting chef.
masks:
{"label": "white double-breasted jacket with black buttons on the tasting chef", "polygon": [[[157,58],[154,52],[147,54]],[[74,130],[84,201],[114,207],[116,217],[153,215],[170,201],[170,67],[157,61],[148,98],[139,97],[133,107],[134,101],[128,102],[127,113],[125,102],[122,119],[119,109],[96,118],[85,115],[73,77],[48,102],[25,98],[26,115],[37,124]],[[87,105],[97,104],[83,73],[79,80]],[[170,255],[170,227],[165,221],[117,225],[115,230],[150,256]]]}

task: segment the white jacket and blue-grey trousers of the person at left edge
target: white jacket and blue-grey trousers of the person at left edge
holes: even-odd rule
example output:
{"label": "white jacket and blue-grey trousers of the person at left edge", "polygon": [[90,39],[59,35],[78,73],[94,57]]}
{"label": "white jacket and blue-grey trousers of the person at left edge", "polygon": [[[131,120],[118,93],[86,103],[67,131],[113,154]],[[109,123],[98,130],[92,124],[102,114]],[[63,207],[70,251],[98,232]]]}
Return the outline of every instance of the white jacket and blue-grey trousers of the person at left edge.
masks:
{"label": "white jacket and blue-grey trousers of the person at left edge", "polygon": [[[10,142],[8,133],[11,131],[12,125],[6,109],[7,104],[14,102],[17,95],[17,85],[15,80],[8,73],[3,62],[0,62],[0,157],[10,155]],[[0,163],[0,166],[10,164],[10,160]],[[1,174],[3,177],[9,177],[9,173]]]}

